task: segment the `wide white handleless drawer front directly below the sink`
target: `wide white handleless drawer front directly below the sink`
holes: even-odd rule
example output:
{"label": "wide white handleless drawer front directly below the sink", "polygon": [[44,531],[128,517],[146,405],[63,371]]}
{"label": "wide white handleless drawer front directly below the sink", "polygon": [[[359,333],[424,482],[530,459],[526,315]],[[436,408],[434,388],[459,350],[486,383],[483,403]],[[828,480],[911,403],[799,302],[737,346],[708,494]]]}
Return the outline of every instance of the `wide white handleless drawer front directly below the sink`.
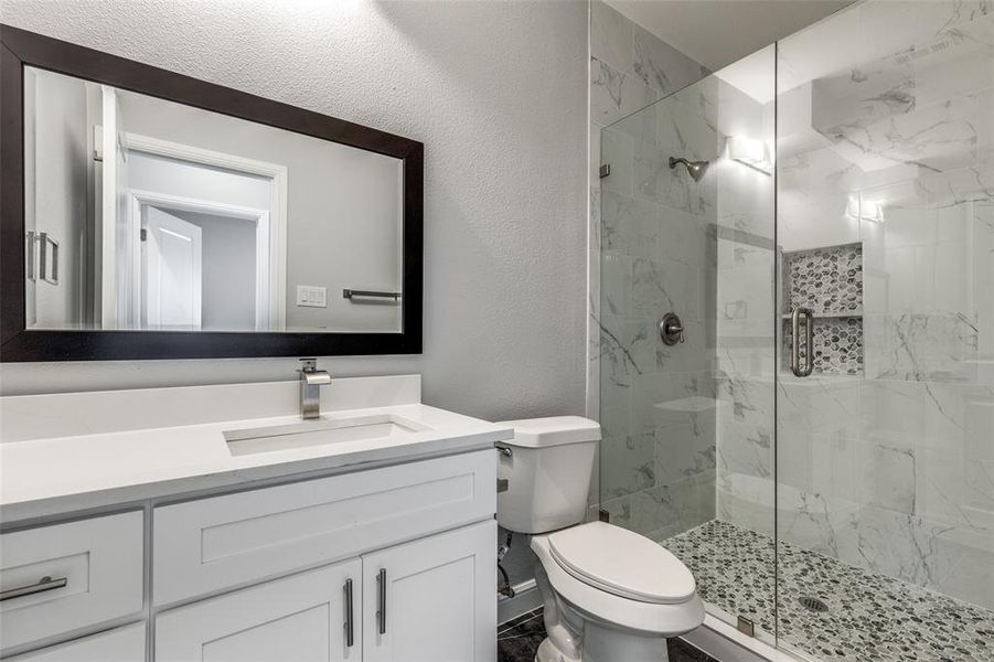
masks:
{"label": "wide white handleless drawer front directly below the sink", "polygon": [[163,505],[156,605],[246,585],[492,517],[493,450]]}

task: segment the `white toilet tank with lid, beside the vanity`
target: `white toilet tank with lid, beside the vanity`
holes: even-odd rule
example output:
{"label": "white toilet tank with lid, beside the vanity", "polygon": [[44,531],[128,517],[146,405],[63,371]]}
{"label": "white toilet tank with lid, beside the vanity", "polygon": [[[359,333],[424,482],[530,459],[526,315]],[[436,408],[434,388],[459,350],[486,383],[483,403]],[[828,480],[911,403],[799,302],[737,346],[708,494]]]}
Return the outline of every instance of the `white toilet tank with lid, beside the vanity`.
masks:
{"label": "white toilet tank with lid, beside the vanity", "polygon": [[498,445],[498,523],[546,533],[584,521],[600,426],[580,416],[504,420],[514,438]]}

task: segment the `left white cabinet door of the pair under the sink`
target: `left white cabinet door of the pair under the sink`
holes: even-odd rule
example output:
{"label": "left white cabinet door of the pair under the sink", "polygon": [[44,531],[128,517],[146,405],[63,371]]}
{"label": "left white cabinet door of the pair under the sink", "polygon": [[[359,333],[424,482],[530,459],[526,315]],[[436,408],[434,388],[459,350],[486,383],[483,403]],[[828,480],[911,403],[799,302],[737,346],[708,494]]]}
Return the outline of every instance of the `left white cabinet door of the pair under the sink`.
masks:
{"label": "left white cabinet door of the pair under the sink", "polygon": [[362,660],[361,577],[355,558],[164,611],[156,619],[156,661]]}

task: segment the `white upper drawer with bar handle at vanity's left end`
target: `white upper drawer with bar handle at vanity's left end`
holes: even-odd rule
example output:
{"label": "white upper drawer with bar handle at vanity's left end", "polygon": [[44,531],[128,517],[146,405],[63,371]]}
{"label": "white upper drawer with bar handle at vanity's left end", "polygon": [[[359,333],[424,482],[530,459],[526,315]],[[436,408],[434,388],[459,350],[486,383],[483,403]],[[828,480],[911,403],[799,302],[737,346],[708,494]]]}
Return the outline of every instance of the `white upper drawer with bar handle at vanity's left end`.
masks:
{"label": "white upper drawer with bar handle at vanity's left end", "polygon": [[0,536],[3,649],[141,611],[143,538],[141,511]]}

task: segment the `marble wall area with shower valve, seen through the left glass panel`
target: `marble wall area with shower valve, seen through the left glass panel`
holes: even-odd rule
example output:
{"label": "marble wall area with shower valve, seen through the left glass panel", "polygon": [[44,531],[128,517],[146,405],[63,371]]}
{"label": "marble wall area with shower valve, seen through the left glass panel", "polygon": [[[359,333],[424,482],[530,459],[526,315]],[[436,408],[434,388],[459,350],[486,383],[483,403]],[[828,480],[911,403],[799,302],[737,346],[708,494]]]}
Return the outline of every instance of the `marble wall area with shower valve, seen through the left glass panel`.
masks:
{"label": "marble wall area with shower valve, seen through the left glass panel", "polygon": [[[601,508],[659,537],[714,516],[716,191],[666,162],[716,156],[703,85],[602,132],[612,173],[601,180]],[[670,311],[685,328],[672,346],[658,329]]]}

